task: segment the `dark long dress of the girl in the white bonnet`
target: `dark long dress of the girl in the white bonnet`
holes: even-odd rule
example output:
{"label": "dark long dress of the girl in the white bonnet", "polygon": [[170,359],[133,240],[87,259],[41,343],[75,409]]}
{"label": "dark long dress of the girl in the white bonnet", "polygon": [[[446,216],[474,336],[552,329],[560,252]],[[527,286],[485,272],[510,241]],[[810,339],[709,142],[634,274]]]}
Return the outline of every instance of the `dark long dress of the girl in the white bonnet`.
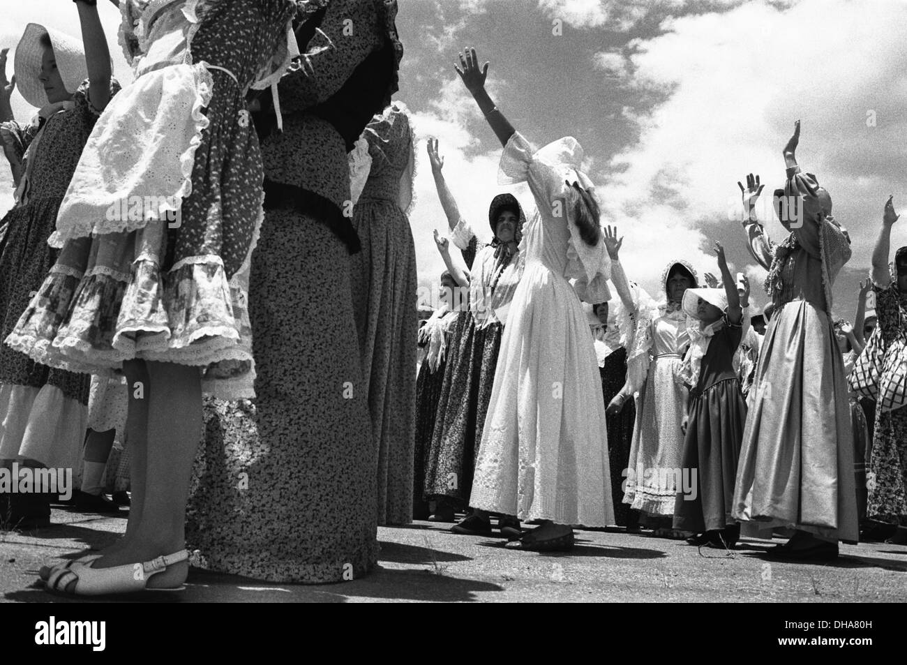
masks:
{"label": "dark long dress of the girl in the white bonnet", "polygon": [[[699,380],[690,391],[689,420],[684,438],[681,470],[690,492],[678,492],[674,528],[702,533],[735,523],[731,517],[734,484],[746,401],[734,371],[734,351],[741,328],[725,325],[709,342],[702,358]],[[696,478],[693,478],[693,472]]]}

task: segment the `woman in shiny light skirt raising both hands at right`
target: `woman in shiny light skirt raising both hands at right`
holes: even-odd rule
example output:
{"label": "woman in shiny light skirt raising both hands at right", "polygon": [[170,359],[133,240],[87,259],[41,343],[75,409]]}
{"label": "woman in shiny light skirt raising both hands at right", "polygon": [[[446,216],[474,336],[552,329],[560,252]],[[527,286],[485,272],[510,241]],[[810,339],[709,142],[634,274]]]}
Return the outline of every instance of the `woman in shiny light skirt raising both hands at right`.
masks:
{"label": "woman in shiny light skirt raising both hands at right", "polygon": [[762,185],[747,177],[744,228],[753,257],[766,269],[775,311],[750,389],[734,517],[763,527],[793,527],[770,551],[789,560],[834,559],[838,541],[856,542],[853,429],[844,359],[834,339],[832,287],[851,257],[850,241],[831,217],[832,200],[800,172],[800,122],[785,146],[785,189],[775,191],[778,218],[790,235],[774,246],[756,220]]}

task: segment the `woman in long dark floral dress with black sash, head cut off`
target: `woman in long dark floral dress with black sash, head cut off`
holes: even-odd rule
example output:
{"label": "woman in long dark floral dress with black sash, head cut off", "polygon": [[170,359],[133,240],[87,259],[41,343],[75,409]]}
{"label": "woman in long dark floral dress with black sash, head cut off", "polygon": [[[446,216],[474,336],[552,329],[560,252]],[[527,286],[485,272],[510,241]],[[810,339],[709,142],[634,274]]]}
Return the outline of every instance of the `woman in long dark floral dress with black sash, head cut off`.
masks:
{"label": "woman in long dark floral dress with black sash, head cut off", "polygon": [[403,47],[391,0],[299,9],[303,53],[278,86],[283,132],[276,110],[256,113],[266,213],[249,279],[255,400],[207,409],[186,539],[208,570],[342,582],[370,571],[378,551],[347,154],[396,92]]}

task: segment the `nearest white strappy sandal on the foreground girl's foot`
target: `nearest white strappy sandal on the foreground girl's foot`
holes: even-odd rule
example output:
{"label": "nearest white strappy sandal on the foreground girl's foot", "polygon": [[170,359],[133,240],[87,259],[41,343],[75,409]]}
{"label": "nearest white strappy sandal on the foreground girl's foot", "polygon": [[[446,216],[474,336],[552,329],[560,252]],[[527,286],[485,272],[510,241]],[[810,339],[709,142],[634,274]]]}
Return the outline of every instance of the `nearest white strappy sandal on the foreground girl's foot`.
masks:
{"label": "nearest white strappy sandal on the foreground girl's foot", "polygon": [[[152,575],[166,571],[168,566],[188,559],[189,552],[181,550],[144,563],[127,563],[113,568],[93,568],[94,560],[87,563],[73,562],[70,566],[54,568],[50,578],[44,582],[44,589],[66,596],[102,596],[108,593],[142,591],[178,592],[186,586],[180,584],[167,589],[149,589],[148,580]],[[75,582],[75,587],[72,592],[67,592],[66,587],[71,582]]]}

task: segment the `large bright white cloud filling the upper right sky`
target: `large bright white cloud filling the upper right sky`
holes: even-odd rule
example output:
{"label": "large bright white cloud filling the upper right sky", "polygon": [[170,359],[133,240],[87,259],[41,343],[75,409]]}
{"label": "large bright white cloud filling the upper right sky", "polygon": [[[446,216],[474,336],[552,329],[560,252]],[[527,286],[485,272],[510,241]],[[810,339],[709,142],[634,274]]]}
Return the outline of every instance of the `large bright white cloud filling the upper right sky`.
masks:
{"label": "large bright white cloud filling the upper right sky", "polygon": [[[762,174],[764,197],[782,184],[781,149],[797,118],[799,161],[831,191],[835,216],[853,238],[849,268],[868,265],[884,197],[899,191],[907,169],[907,76],[896,27],[905,20],[907,5],[882,0],[758,2],[668,19],[664,34],[631,42],[623,83],[667,92],[654,109],[636,112],[639,142],[600,174],[606,218],[626,233],[625,260],[637,279],[653,287],[663,263],[678,255],[714,271],[700,249],[707,234],[733,233],[734,256],[748,260],[739,227],[718,225],[736,226],[728,210],[747,172]],[[619,70],[613,51],[596,62]],[[871,110],[874,127],[866,122]],[[780,224],[763,219],[780,240]],[[749,271],[756,277],[755,267]],[[764,298],[760,283],[753,280],[754,292]]]}

